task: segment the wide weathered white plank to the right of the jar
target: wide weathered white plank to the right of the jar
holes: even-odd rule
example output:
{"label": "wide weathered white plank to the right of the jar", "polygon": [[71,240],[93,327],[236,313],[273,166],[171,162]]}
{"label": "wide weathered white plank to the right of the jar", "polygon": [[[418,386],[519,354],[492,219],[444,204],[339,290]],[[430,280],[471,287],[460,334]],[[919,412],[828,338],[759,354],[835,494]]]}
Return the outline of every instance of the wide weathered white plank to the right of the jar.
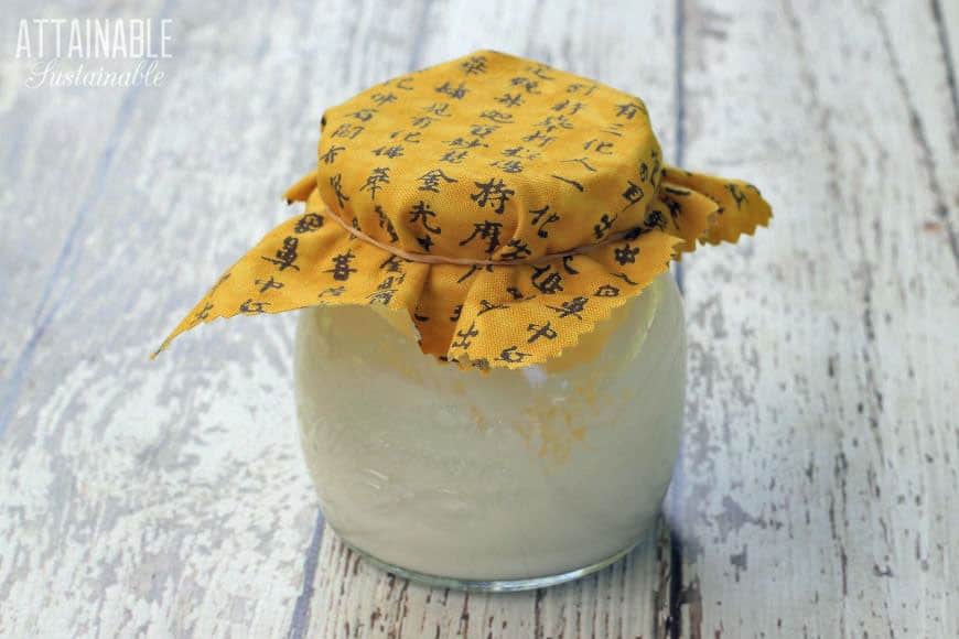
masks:
{"label": "wide weathered white plank to the right of the jar", "polygon": [[686,164],[777,217],[685,266],[682,632],[955,637],[959,131],[929,4],[687,28]]}

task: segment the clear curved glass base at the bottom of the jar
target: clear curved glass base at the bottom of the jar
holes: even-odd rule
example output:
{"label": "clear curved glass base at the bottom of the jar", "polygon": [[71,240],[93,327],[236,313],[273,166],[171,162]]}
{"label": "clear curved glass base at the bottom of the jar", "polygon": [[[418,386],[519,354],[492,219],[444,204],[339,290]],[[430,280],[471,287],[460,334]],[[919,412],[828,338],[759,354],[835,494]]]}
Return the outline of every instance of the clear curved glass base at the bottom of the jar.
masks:
{"label": "clear curved glass base at the bottom of the jar", "polygon": [[[334,531],[335,532],[335,531]],[[338,535],[337,535],[338,537]],[[424,586],[438,587],[438,588],[450,588],[453,591],[467,591],[471,593],[519,593],[522,591],[535,591],[537,588],[547,588],[549,586],[556,586],[559,584],[564,584],[567,582],[572,582],[579,580],[580,577],[584,577],[586,575],[591,575],[595,572],[599,572],[631,552],[633,552],[636,546],[638,546],[644,540],[646,535],[640,537],[623,550],[607,556],[604,560],[600,560],[596,563],[583,566],[581,568],[574,568],[571,571],[567,571],[563,573],[557,573],[554,575],[547,575],[542,577],[529,577],[522,580],[461,580],[456,577],[442,577],[439,575],[431,575],[428,573],[421,573],[418,571],[405,568],[389,562],[385,562],[376,556],[369,554],[368,552],[356,548],[352,543],[345,541],[342,537],[340,537],[341,542],[348,548],[351,551],[358,554],[363,557],[364,561],[369,564],[376,566],[377,568],[385,571],[387,573],[391,573],[397,575],[398,577],[402,577],[405,580],[409,580],[413,583],[421,584]]]}

